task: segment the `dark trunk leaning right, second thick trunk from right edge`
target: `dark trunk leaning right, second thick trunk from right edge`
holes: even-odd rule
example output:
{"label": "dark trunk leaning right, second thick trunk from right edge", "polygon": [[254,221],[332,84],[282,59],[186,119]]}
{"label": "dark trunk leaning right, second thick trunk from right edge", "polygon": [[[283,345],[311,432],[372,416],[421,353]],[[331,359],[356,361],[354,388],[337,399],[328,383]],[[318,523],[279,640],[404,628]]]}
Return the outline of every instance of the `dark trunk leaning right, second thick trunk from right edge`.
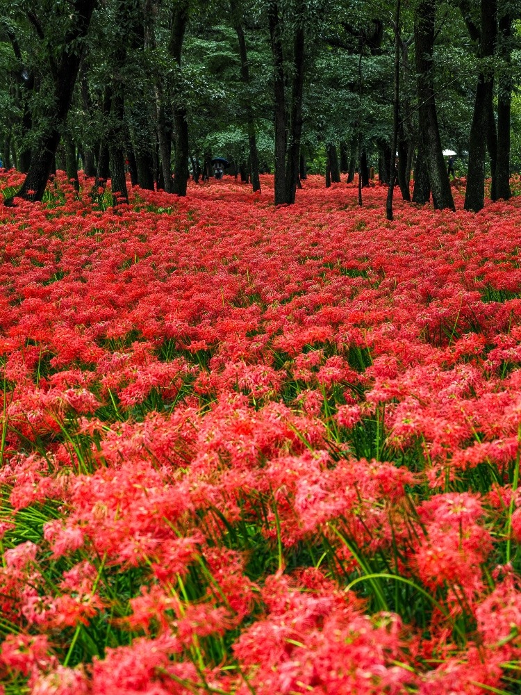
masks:
{"label": "dark trunk leaning right, second thick trunk from right edge", "polygon": [[[478,212],[485,204],[485,155],[487,136],[493,119],[494,74],[486,60],[494,55],[497,30],[497,1],[481,0],[481,44],[479,58],[481,70],[478,75],[474,114],[470,126],[468,148],[467,191],[465,210]],[[494,125],[495,129],[495,125]]]}

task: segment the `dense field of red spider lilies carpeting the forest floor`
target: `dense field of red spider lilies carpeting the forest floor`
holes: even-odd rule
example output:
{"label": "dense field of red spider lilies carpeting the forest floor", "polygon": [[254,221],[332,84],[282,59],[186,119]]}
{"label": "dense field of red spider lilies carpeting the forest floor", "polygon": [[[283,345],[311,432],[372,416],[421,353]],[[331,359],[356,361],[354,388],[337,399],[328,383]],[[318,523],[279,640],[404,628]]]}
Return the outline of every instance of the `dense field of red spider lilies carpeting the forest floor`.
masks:
{"label": "dense field of red spider lilies carpeting the forest floor", "polygon": [[520,692],[521,195],[82,184],[0,205],[5,693]]}

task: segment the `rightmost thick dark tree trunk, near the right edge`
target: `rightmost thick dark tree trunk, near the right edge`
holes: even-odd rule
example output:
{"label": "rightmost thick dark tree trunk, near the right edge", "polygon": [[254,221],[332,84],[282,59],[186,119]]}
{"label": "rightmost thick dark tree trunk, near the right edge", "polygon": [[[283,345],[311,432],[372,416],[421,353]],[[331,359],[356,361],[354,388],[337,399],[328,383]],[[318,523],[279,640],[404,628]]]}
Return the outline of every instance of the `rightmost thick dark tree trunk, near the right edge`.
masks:
{"label": "rightmost thick dark tree trunk, near the right edge", "polygon": [[510,115],[512,100],[511,46],[512,18],[506,12],[499,17],[499,56],[502,66],[497,90],[497,165],[496,195],[508,200],[510,189]]}

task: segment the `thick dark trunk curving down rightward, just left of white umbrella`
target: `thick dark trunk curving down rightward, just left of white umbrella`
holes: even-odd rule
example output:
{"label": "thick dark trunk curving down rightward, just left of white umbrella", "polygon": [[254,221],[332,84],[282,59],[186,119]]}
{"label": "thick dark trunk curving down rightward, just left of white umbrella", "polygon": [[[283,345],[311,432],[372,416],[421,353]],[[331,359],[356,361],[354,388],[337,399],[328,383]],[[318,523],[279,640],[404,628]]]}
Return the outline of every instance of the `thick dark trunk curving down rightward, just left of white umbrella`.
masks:
{"label": "thick dark trunk curving down rightward, just left of white umbrella", "polygon": [[434,19],[436,2],[419,0],[415,8],[414,44],[417,73],[417,92],[420,108],[418,120],[423,140],[423,154],[429,174],[434,207],[455,210],[449,174],[441,149],[440,129],[434,99]]}

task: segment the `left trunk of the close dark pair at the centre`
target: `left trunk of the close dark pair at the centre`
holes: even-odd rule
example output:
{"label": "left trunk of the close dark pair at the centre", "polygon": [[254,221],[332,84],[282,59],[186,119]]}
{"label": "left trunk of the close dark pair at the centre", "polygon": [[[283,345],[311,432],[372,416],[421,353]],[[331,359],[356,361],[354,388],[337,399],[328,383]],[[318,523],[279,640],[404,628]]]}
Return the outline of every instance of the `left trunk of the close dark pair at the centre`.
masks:
{"label": "left trunk of the close dark pair at the centre", "polygon": [[274,126],[275,126],[275,205],[286,202],[286,96],[284,93],[284,56],[281,42],[279,7],[276,0],[268,10],[273,55]]}

